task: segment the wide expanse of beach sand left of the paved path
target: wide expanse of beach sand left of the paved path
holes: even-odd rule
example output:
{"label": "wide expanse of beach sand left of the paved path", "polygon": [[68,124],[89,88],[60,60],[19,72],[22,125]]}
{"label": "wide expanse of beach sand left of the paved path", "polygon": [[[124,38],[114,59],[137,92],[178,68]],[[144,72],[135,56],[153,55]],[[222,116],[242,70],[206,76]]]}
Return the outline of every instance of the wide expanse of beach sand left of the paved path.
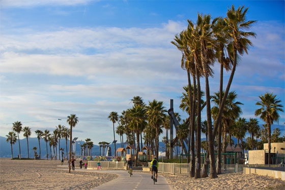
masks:
{"label": "wide expanse of beach sand left of the paved path", "polygon": [[[65,162],[66,163],[66,162]],[[0,189],[92,189],[117,174],[58,170],[60,160],[0,159]],[[67,166],[66,166],[67,167]]]}

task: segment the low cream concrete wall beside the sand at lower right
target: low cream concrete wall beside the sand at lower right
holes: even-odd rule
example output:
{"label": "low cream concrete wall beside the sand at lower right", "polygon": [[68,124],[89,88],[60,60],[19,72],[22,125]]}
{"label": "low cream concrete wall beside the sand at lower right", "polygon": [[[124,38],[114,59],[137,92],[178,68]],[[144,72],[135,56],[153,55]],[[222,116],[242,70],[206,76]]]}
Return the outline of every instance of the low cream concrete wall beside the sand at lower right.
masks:
{"label": "low cream concrete wall beside the sand at lower right", "polygon": [[243,168],[244,174],[257,174],[263,176],[270,176],[274,178],[280,178],[285,181],[285,172],[284,171],[276,171],[276,170],[266,170],[266,169],[258,169],[258,168]]}

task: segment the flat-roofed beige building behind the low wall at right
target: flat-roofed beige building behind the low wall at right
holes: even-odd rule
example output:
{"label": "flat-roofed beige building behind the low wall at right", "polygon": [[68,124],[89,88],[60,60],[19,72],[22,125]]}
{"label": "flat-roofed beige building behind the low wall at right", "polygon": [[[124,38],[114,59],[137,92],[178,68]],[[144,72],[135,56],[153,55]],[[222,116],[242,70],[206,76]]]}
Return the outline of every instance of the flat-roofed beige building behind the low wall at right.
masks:
{"label": "flat-roofed beige building behind the low wall at right", "polygon": [[[271,164],[284,163],[285,142],[271,143]],[[283,157],[283,159],[282,159]],[[268,143],[263,145],[263,150],[249,150],[248,164],[268,164]]]}

